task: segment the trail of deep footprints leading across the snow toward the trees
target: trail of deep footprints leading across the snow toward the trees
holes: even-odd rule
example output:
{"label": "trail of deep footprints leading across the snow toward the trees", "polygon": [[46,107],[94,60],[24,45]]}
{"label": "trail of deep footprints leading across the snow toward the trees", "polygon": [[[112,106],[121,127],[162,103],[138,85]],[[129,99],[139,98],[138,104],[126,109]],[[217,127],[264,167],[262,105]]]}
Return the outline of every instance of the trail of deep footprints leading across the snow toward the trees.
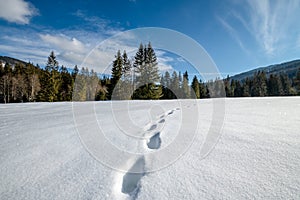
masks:
{"label": "trail of deep footprints leading across the snow toward the trees", "polygon": [[[166,112],[159,117],[159,120],[144,127],[144,136],[149,138],[148,141],[145,141],[147,142],[148,149],[156,150],[160,148],[162,142],[160,134],[161,130],[163,129],[164,123],[166,122],[166,118],[174,114],[174,112],[177,110],[180,110],[180,108],[176,108]],[[140,189],[139,182],[145,175],[145,173],[143,172],[145,164],[145,157],[140,156],[128,170],[128,172],[123,176],[122,193],[128,194],[131,199],[136,199],[137,197]],[[132,173],[132,171],[143,173]]]}

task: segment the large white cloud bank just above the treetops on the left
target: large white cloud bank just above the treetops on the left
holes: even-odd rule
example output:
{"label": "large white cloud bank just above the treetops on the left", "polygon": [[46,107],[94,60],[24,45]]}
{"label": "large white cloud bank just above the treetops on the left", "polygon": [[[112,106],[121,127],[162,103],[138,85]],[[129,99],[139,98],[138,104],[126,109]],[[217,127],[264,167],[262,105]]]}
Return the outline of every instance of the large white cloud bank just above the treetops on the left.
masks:
{"label": "large white cloud bank just above the treetops on the left", "polygon": [[39,36],[43,43],[46,43],[49,48],[56,52],[60,64],[65,66],[74,66],[76,64],[80,67],[93,68],[100,73],[107,70],[110,71],[107,68],[110,67],[118,50],[121,53],[126,50],[131,57],[137,49],[130,42],[135,41],[134,36],[128,33],[113,36],[104,41],[94,38],[93,43],[86,42],[88,38],[77,39],[65,34],[53,33],[40,34]]}

